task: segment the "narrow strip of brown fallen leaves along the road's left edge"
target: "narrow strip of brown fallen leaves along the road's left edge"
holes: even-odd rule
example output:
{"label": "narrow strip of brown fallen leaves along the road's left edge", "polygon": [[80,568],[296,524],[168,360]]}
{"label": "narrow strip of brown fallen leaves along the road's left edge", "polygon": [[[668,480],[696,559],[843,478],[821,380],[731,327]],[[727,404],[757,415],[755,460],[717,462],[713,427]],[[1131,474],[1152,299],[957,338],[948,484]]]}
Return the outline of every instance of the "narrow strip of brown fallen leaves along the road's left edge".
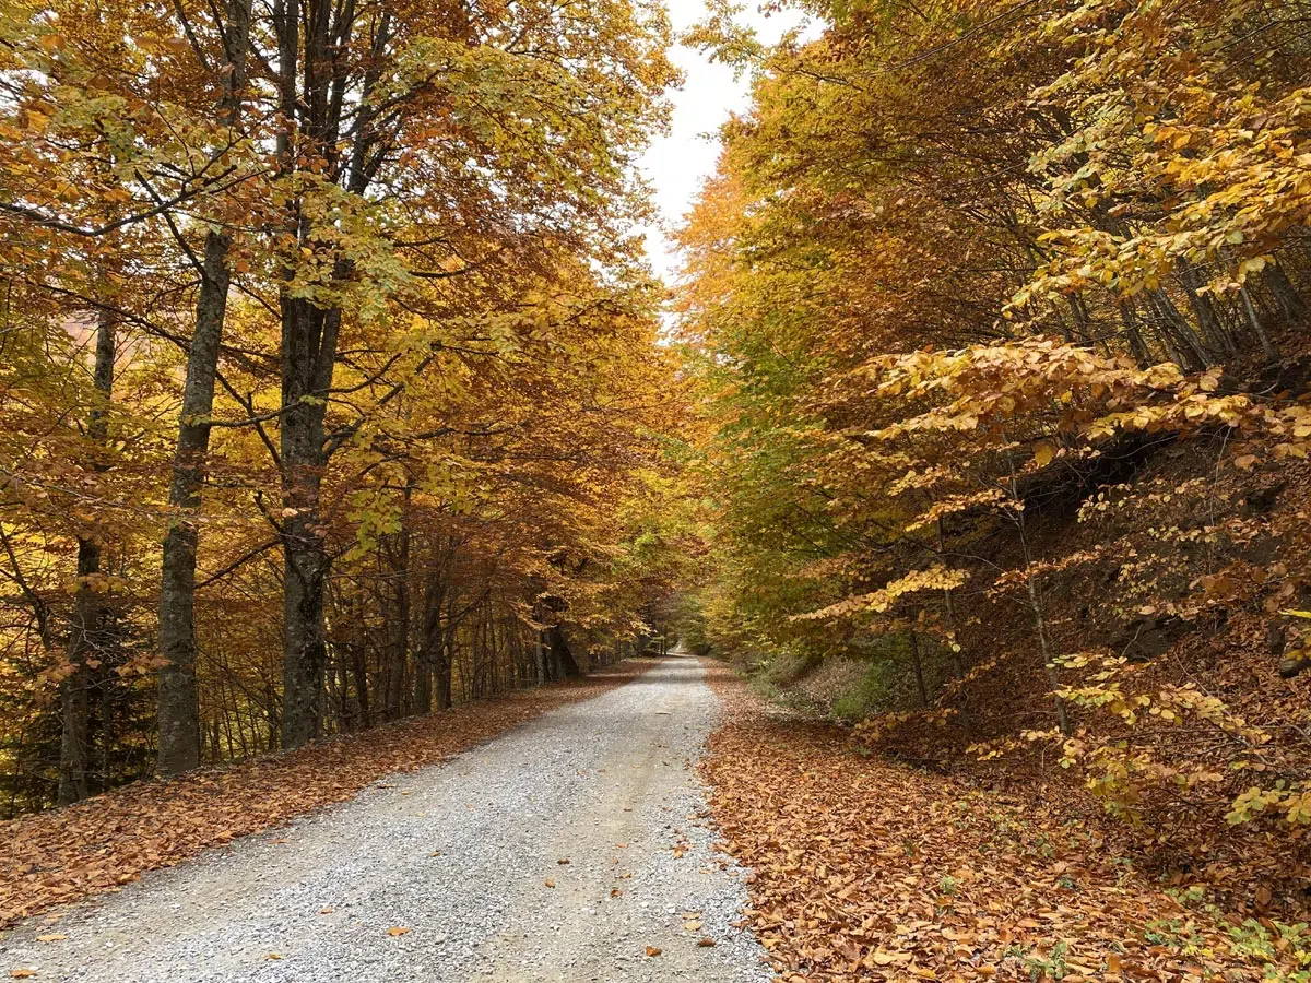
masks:
{"label": "narrow strip of brown fallen leaves along the road's left edge", "polygon": [[548,710],[599,696],[653,665],[627,659],[586,679],[463,704],[286,755],[136,782],[3,823],[0,928],[342,802],[387,775],[440,763]]}

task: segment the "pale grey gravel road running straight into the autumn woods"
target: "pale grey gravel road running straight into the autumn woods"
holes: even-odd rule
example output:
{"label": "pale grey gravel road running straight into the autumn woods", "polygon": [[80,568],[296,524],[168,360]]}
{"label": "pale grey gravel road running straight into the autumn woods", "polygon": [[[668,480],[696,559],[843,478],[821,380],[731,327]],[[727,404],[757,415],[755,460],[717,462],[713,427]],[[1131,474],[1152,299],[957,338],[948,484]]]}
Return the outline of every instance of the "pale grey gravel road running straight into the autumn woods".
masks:
{"label": "pale grey gravel road running straight into the autumn woods", "polygon": [[718,714],[701,675],[671,658],[444,765],[33,919],[0,938],[0,974],[763,983],[759,945],[730,924],[741,870],[700,818],[691,763]]}

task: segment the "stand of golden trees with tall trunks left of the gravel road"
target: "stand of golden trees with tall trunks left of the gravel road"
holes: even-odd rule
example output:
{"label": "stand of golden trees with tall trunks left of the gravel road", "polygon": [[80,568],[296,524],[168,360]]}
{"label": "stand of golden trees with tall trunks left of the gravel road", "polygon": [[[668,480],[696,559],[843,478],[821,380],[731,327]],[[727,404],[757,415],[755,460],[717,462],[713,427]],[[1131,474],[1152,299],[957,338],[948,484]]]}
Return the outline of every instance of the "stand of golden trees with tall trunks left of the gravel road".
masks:
{"label": "stand of golden trees with tall trunks left of the gravel road", "polygon": [[674,360],[628,3],[7,3],[9,814],[632,649]]}

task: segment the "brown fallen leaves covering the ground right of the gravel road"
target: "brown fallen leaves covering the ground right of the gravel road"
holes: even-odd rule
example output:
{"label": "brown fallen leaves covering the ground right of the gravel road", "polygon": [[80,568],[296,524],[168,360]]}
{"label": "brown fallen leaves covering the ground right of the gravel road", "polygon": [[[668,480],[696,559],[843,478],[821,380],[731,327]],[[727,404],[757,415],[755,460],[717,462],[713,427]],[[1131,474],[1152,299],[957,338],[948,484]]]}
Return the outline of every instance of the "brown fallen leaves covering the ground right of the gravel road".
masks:
{"label": "brown fallen leaves covering the ground right of the gravel road", "polygon": [[1042,790],[865,756],[711,682],[728,718],[701,767],[780,980],[1306,979],[1299,928],[1169,891]]}

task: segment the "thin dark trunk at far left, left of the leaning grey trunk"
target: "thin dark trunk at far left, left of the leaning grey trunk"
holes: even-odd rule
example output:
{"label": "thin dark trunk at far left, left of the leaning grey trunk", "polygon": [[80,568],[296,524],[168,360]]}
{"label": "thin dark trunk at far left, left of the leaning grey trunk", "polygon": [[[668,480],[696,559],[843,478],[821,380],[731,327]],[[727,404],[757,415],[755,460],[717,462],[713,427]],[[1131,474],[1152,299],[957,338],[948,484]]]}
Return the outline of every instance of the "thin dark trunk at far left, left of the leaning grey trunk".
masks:
{"label": "thin dark trunk at far left, left of the leaning grey trunk", "polygon": [[[109,406],[114,397],[114,358],[118,347],[118,322],[108,309],[96,320],[96,402],[87,422],[87,436],[97,447],[109,436]],[[104,468],[97,463],[97,471]],[[90,689],[94,665],[104,661],[105,603],[100,579],[101,544],[93,536],[77,539],[77,594],[73,598],[72,625],[68,633],[71,672],[60,684],[63,727],[59,741],[59,805],[68,805],[90,794],[87,768],[90,761]],[[97,658],[98,655],[98,658]]]}

